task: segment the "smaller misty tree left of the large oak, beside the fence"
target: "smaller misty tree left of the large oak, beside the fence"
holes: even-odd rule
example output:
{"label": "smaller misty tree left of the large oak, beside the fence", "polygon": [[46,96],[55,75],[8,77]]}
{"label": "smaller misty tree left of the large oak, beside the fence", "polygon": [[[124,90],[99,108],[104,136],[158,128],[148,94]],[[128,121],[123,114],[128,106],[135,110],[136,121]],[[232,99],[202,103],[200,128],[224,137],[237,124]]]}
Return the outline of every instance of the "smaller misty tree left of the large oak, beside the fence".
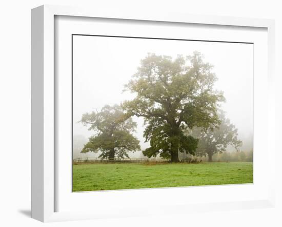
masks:
{"label": "smaller misty tree left of the large oak, beside the fence", "polygon": [[88,130],[96,132],[84,145],[82,153],[102,152],[100,158],[113,160],[115,157],[129,158],[128,152],[140,150],[139,140],[131,134],[136,122],[118,105],[106,105],[100,112],[85,113],[81,122],[89,126]]}

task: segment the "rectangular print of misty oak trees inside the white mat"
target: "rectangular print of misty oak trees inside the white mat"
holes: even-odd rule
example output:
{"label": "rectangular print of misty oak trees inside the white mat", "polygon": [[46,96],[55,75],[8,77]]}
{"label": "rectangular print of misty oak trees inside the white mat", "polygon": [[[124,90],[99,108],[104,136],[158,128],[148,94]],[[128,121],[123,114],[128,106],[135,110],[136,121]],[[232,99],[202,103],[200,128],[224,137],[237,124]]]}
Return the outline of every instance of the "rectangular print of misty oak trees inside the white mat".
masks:
{"label": "rectangular print of misty oak trees inside the white mat", "polygon": [[253,183],[253,44],[72,35],[72,191]]}

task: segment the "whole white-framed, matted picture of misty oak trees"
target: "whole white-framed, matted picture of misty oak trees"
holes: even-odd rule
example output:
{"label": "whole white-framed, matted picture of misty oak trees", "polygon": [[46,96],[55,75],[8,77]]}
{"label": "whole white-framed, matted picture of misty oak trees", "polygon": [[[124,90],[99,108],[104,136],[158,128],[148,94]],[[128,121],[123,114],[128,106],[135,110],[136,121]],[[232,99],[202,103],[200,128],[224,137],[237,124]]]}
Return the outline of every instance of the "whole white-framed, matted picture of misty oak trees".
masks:
{"label": "whole white-framed, matted picture of misty oak trees", "polygon": [[274,21],[32,10],[32,217],[274,205]]}

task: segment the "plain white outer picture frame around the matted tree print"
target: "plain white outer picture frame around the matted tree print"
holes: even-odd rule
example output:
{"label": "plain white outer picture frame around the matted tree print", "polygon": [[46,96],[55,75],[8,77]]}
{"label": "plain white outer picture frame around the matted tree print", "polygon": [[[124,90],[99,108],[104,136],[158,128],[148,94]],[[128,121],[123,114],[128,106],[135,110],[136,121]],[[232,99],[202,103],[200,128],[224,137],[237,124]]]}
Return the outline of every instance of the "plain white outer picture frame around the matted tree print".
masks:
{"label": "plain white outer picture frame around the matted tree print", "polygon": [[[80,220],[107,218],[107,214],[94,211],[55,212],[56,166],[55,156],[55,80],[54,80],[54,17],[80,16],[93,18],[112,18],[152,22],[174,22],[205,25],[240,26],[267,29],[267,149],[268,156],[275,155],[274,145],[274,21],[266,19],[184,15],[176,13],[146,12],[108,12],[99,9],[81,9],[76,7],[44,5],[32,9],[32,218],[49,222],[62,220]],[[258,130],[258,129],[256,129]],[[269,173],[274,173],[274,165],[266,163]],[[250,209],[255,207],[272,207],[275,203],[274,174],[270,175],[267,198],[237,202],[221,201],[218,203],[174,204],[173,213],[203,212],[207,210]],[[171,188],[170,190],[176,190]],[[224,190],[224,189],[223,189]],[[243,188],[244,190],[244,188]],[[131,191],[132,192],[132,191]],[[137,191],[135,191],[136,193]],[[117,192],[112,192],[117,193]],[[120,210],[128,211],[115,217],[147,215],[150,209],[130,211],[119,205]],[[171,213],[172,205],[162,206],[155,214]]]}

